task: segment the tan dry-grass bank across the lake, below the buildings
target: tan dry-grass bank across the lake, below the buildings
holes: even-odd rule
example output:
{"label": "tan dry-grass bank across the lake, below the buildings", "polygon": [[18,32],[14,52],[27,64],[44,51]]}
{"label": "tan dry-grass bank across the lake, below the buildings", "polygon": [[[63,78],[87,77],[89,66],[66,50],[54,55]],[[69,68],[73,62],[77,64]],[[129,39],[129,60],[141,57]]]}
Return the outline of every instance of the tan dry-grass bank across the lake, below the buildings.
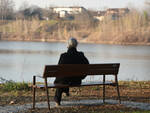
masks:
{"label": "tan dry-grass bank across the lake, below the buildings", "polygon": [[65,41],[70,36],[81,42],[150,45],[150,20],[146,14],[131,11],[112,20],[15,20],[0,26],[1,40]]}

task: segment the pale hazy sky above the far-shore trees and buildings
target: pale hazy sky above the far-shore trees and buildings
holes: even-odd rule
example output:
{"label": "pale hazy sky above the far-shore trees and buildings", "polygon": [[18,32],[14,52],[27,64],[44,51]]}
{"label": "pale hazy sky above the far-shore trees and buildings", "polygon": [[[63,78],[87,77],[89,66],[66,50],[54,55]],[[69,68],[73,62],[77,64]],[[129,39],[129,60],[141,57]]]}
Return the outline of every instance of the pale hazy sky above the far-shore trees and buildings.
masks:
{"label": "pale hazy sky above the far-shore trees and buildings", "polygon": [[145,1],[150,0],[14,0],[16,9],[24,2],[28,2],[29,5],[37,5],[43,8],[49,6],[83,6],[95,10],[128,6],[139,9],[143,8]]}

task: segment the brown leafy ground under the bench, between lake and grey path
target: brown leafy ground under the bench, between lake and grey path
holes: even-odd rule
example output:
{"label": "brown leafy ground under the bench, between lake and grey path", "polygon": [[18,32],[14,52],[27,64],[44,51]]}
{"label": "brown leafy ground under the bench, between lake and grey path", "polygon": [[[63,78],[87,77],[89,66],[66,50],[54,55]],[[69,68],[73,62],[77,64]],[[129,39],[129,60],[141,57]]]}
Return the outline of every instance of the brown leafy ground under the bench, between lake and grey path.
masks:
{"label": "brown leafy ground under the bench, between lake and grey path", "polygon": [[[142,85],[141,85],[142,84]],[[146,83],[120,83],[121,100],[150,103],[150,82]],[[55,89],[50,89],[50,99],[53,101]],[[63,96],[63,100],[80,100],[80,99],[102,99],[102,86],[90,86],[80,88],[70,88],[69,97]],[[115,87],[106,86],[106,99],[117,99],[117,91]],[[31,103],[32,91],[12,91],[0,92],[0,106],[5,106],[13,101],[13,104]],[[37,90],[36,101],[46,101],[46,93],[44,90]]]}

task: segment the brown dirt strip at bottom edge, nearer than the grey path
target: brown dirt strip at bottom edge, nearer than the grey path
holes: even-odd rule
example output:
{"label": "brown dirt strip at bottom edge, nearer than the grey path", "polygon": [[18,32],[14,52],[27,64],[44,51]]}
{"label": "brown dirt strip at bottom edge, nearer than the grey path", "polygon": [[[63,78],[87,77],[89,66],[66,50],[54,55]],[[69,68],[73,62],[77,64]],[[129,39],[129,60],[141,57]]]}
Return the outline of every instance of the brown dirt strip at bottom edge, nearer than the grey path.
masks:
{"label": "brown dirt strip at bottom edge, nearer than the grey path", "polygon": [[61,108],[52,108],[50,111],[46,108],[41,109],[29,109],[27,111],[24,111],[23,113],[122,113],[122,112],[145,112],[139,109],[129,108],[125,107],[123,105],[94,105],[94,106],[73,106],[73,107],[66,107]]}

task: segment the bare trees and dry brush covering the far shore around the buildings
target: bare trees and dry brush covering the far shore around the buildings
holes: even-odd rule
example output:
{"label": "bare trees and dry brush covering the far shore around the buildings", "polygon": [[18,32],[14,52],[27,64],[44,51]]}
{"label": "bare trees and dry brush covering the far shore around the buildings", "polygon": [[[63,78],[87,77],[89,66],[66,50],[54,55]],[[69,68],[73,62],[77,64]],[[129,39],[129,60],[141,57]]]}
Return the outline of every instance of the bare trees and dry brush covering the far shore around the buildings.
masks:
{"label": "bare trees and dry brush covering the far shore around the buildings", "polygon": [[[65,41],[74,36],[82,42],[150,45],[150,4],[145,5],[147,8],[143,11],[130,8],[128,14],[116,20],[106,16],[99,22],[93,18],[91,10],[66,20],[58,18],[48,8],[23,3],[15,11],[12,0],[0,0],[0,39]],[[49,20],[42,17],[49,17]]]}

